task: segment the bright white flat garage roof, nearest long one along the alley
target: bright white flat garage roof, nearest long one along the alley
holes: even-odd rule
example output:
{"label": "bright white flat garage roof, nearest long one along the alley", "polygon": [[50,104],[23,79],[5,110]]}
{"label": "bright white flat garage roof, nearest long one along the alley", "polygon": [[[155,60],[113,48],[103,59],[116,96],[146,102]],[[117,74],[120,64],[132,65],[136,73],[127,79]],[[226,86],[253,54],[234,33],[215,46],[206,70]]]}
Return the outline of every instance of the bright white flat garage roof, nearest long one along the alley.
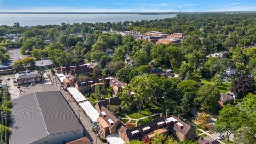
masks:
{"label": "bright white flat garage roof, nearest long one along the alley", "polygon": [[92,122],[97,122],[97,118],[99,117],[98,111],[92,106],[89,101],[79,102],[79,105],[82,107],[84,112],[89,116]]}

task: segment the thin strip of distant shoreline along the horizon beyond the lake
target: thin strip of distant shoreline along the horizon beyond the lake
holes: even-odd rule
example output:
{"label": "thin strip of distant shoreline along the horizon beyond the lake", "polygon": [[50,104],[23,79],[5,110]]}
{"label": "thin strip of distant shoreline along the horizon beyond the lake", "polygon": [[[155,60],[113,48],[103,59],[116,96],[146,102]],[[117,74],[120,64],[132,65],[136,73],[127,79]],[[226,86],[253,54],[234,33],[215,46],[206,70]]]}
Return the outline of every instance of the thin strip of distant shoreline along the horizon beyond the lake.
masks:
{"label": "thin strip of distant shoreline along the horizon beyond the lake", "polygon": [[255,13],[256,11],[226,11],[226,12],[0,12],[0,14],[138,14],[163,15],[179,13]]}

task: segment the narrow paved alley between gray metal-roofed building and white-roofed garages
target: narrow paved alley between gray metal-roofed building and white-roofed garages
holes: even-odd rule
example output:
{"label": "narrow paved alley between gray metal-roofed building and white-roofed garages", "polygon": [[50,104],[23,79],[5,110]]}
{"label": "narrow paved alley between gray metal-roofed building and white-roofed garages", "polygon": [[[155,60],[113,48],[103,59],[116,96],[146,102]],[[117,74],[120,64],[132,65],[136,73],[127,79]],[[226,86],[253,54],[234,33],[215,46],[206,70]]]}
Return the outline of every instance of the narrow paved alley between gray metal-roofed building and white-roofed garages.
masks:
{"label": "narrow paved alley between gray metal-roofed building and white-roofed garages", "polygon": [[[73,97],[67,92],[64,91],[63,89],[61,89],[61,82],[59,81],[59,79],[56,76],[52,76],[50,74],[50,79],[53,82],[54,81],[54,85],[57,86],[57,89],[62,93],[62,95],[66,98],[66,100],[68,101],[70,107],[73,109],[73,111],[75,112],[76,116],[79,117],[80,116],[80,121],[85,129],[85,135],[89,138],[89,140],[92,143],[103,143],[100,141],[99,138],[96,139],[96,135],[95,133],[92,131],[92,123],[89,121],[89,119],[85,116],[85,114],[81,111],[82,109],[79,108],[79,106],[76,104],[75,100],[73,100]],[[56,83],[57,82],[57,83]]]}

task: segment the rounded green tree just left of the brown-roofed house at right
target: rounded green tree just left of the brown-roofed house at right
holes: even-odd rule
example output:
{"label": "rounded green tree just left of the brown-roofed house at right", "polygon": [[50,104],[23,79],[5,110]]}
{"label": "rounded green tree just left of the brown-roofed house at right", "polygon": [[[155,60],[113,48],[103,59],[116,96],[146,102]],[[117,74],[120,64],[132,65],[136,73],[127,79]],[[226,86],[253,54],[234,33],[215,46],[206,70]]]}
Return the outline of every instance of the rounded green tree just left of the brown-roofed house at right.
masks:
{"label": "rounded green tree just left of the brown-roofed house at right", "polygon": [[219,90],[211,84],[204,84],[197,91],[197,97],[194,99],[196,105],[202,110],[216,111],[219,107],[220,100]]}

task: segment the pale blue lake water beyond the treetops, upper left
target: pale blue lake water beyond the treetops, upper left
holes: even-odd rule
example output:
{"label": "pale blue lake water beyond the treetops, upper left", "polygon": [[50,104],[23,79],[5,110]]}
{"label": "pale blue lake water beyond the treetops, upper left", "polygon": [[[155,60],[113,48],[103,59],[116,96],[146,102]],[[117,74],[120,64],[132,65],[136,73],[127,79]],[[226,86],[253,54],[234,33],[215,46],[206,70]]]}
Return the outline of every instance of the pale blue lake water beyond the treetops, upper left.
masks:
{"label": "pale blue lake water beyond the treetops, upper left", "polygon": [[49,25],[61,23],[96,23],[137,20],[155,20],[173,18],[175,14],[139,15],[139,14],[0,14],[0,25],[12,26],[19,22],[20,26]]}

